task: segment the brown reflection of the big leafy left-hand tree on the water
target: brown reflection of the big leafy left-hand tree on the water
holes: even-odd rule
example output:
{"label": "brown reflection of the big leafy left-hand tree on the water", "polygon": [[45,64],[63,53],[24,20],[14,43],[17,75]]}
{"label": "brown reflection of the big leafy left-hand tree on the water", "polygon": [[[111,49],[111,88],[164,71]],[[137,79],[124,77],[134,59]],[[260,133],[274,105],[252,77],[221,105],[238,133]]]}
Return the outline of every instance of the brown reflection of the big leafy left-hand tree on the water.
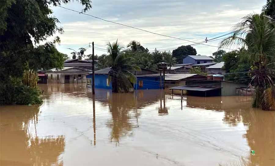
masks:
{"label": "brown reflection of the big leafy left-hand tree on the water", "polygon": [[38,105],[1,107],[0,119],[0,165],[63,165],[58,157],[64,152],[64,136],[36,136]]}

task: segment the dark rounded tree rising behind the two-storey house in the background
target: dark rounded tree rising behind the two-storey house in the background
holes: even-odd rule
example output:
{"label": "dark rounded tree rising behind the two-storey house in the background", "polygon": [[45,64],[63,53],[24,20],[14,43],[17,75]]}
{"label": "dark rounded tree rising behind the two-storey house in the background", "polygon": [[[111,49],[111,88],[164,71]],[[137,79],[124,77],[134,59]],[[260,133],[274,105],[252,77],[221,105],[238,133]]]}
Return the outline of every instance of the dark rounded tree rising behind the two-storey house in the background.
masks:
{"label": "dark rounded tree rising behind the two-storey house in the background", "polygon": [[180,46],[173,50],[172,55],[177,58],[177,63],[182,63],[182,59],[184,59],[187,55],[197,55],[197,51],[190,45]]}

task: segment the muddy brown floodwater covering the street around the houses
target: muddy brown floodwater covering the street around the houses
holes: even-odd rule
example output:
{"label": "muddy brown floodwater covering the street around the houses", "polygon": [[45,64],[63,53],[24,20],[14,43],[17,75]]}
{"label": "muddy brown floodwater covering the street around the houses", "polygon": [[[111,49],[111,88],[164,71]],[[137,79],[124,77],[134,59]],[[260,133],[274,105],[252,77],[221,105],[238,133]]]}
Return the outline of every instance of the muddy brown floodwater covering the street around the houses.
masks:
{"label": "muddy brown floodwater covering the street around the houses", "polygon": [[250,97],[185,96],[181,110],[160,90],[40,87],[42,105],[0,107],[0,165],[275,165],[275,111]]}

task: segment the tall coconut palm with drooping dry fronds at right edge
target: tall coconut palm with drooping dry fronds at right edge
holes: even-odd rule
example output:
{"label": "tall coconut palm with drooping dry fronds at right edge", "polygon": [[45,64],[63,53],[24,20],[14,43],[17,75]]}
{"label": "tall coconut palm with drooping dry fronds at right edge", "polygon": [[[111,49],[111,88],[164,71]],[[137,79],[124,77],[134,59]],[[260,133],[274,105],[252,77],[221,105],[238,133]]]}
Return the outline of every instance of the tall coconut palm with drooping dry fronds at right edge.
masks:
{"label": "tall coconut palm with drooping dry fronds at right edge", "polygon": [[219,47],[237,46],[248,50],[246,57],[251,64],[251,83],[255,86],[252,106],[263,110],[275,109],[274,20],[264,13],[250,14],[243,17],[233,31],[233,35],[224,39]]}

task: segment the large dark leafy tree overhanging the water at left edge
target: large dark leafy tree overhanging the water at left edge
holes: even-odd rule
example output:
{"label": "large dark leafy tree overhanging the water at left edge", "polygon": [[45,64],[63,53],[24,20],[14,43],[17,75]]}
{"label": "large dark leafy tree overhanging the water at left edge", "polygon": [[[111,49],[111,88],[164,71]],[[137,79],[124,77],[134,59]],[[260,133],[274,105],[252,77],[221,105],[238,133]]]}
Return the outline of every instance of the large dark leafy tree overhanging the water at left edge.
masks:
{"label": "large dark leafy tree overhanging the water at left edge", "polygon": [[[63,33],[63,28],[57,26],[59,20],[53,16],[53,12],[49,8],[51,4],[56,6],[61,3],[67,4],[70,1],[1,1],[0,103],[18,103],[16,101],[19,100],[18,96],[27,93],[31,97],[39,98],[38,93],[32,93],[33,90],[24,87],[22,84],[23,73],[25,71],[35,71],[39,68],[62,67],[64,55],[56,50],[54,44],[60,42],[59,38],[56,38],[53,42],[39,44],[56,33]],[[91,8],[90,0],[79,0],[79,2],[84,6],[83,12]],[[37,64],[34,64],[34,62],[37,62]],[[13,93],[15,87],[20,87],[19,94],[16,92],[17,97],[7,97],[8,94],[5,92]]]}

